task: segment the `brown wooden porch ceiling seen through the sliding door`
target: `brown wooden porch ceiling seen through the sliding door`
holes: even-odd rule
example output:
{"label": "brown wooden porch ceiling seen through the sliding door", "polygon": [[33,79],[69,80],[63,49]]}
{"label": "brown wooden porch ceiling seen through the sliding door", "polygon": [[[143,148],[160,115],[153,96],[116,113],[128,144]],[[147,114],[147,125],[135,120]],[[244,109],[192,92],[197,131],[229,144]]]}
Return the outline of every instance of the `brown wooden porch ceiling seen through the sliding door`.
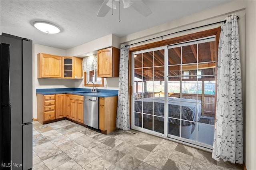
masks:
{"label": "brown wooden porch ceiling seen through the sliding door", "polygon": [[[196,79],[197,68],[198,71],[201,71],[201,75],[214,75],[216,67],[215,49],[215,41],[199,43],[198,49],[196,44],[168,49],[168,75],[180,76],[184,74],[184,71],[189,71],[191,76],[189,79]],[[197,61],[198,65],[196,64]],[[144,81],[153,81],[153,78],[154,81],[163,81],[164,49],[136,54],[134,68],[135,77]],[[180,77],[170,78],[180,79]],[[202,76],[202,79],[206,79],[206,76]],[[208,76],[207,79],[215,78]]]}

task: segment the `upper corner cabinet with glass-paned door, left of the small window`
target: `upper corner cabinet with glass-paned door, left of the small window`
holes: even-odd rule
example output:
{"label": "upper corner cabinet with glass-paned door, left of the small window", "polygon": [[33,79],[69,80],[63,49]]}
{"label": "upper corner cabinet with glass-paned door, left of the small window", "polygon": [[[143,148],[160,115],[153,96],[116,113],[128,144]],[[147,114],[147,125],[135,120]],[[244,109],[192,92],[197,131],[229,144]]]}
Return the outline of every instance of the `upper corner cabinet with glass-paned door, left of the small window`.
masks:
{"label": "upper corner cabinet with glass-paned door, left of the small window", "polygon": [[62,57],[63,61],[63,79],[82,79],[82,58]]}

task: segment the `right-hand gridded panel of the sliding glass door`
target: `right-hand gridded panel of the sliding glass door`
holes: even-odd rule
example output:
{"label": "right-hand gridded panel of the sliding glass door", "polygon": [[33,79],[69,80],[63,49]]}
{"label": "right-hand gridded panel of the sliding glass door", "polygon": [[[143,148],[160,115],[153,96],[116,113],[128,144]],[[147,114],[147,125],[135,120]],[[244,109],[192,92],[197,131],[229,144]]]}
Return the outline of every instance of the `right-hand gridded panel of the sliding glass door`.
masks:
{"label": "right-hand gridded panel of the sliding glass door", "polygon": [[215,38],[168,46],[169,137],[212,146],[215,49]]}

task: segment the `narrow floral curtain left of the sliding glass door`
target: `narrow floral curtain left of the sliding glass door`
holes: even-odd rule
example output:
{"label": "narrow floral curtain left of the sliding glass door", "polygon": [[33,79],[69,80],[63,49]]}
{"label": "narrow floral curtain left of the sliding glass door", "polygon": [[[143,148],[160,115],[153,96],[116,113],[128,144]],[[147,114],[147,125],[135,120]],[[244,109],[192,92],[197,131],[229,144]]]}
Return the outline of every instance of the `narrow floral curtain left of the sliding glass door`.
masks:
{"label": "narrow floral curtain left of the sliding glass door", "polygon": [[128,65],[129,55],[127,45],[122,44],[119,63],[119,91],[116,113],[116,127],[124,130],[130,129],[129,95],[128,95]]}

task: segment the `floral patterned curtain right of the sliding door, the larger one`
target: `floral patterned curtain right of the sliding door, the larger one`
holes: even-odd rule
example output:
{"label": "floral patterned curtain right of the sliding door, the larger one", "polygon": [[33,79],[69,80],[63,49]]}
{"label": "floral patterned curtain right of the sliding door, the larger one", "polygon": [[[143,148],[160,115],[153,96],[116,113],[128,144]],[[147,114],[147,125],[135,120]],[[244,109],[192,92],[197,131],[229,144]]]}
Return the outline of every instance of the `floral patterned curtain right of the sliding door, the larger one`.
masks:
{"label": "floral patterned curtain right of the sliding door, the larger one", "polygon": [[236,14],[221,24],[212,158],[243,163],[242,79]]}

